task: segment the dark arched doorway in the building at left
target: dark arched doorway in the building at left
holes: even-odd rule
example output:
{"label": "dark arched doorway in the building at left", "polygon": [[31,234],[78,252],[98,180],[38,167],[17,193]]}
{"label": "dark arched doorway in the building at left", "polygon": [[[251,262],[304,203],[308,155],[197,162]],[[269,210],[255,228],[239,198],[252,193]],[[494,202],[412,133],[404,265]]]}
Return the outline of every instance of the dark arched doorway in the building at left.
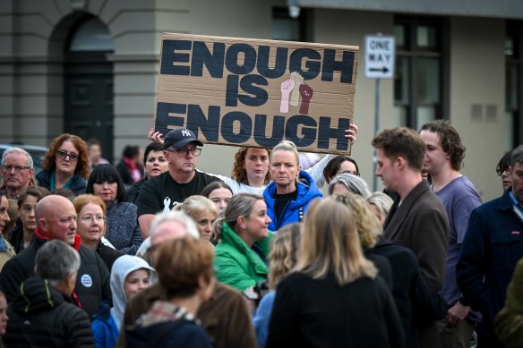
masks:
{"label": "dark arched doorway in the building at left", "polygon": [[97,139],[102,156],[114,159],[113,40],[99,19],[90,17],[72,32],[64,62],[64,131]]}

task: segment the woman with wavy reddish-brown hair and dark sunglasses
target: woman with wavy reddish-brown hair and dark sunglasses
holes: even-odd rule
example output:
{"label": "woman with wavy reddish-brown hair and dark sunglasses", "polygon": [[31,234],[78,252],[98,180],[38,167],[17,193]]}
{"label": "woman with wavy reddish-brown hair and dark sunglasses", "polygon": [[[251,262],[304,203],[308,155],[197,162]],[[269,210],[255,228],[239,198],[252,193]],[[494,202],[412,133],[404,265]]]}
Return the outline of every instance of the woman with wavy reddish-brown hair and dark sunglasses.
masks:
{"label": "woman with wavy reddish-brown hair and dark sunglasses", "polygon": [[85,193],[89,176],[89,148],[76,135],[64,133],[51,142],[43,170],[37,174],[39,186],[49,191],[64,188],[74,195]]}

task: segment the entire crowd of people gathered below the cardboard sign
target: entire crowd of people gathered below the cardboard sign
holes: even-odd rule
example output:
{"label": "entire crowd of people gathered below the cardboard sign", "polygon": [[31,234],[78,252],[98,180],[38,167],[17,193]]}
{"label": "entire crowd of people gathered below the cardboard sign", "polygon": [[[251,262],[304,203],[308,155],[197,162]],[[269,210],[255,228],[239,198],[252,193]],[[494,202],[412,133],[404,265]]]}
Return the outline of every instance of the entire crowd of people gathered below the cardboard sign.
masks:
{"label": "entire crowd of people gathered below the cardboard sign", "polygon": [[289,140],[228,177],[190,130],[148,138],[113,166],[64,133],[38,174],[4,151],[0,344],[523,346],[523,146],[483,203],[441,120],[374,137],[383,192],[348,156],[302,170]]}

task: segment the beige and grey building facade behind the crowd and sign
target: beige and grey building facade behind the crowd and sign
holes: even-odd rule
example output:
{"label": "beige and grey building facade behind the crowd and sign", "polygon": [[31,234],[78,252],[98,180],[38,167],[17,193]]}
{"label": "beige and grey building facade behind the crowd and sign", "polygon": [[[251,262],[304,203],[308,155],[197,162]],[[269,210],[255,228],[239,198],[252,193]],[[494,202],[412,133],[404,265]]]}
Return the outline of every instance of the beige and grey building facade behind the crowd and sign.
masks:
{"label": "beige and grey building facade behind the crowd and sign", "polygon": [[[352,156],[369,183],[376,84],[364,78],[365,35],[397,44],[380,129],[449,119],[484,200],[502,193],[495,165],[523,142],[519,0],[4,0],[0,18],[0,143],[47,145],[73,132],[115,160],[126,144],[146,145],[162,32],[359,46]],[[230,174],[235,152],[205,146],[199,167]]]}

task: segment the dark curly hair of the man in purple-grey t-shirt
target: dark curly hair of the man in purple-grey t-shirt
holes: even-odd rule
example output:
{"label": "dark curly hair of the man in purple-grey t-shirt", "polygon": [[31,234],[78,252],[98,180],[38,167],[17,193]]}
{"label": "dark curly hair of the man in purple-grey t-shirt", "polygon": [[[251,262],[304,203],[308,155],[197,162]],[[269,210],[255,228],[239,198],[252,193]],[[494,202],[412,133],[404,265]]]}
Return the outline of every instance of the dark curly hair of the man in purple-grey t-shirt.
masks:
{"label": "dark curly hair of the man in purple-grey t-shirt", "polygon": [[463,158],[465,158],[465,146],[461,143],[461,137],[456,128],[451,126],[447,120],[435,120],[424,123],[421,131],[434,132],[440,135],[440,145],[443,151],[450,156],[450,166],[455,171],[459,171],[463,166]]}

